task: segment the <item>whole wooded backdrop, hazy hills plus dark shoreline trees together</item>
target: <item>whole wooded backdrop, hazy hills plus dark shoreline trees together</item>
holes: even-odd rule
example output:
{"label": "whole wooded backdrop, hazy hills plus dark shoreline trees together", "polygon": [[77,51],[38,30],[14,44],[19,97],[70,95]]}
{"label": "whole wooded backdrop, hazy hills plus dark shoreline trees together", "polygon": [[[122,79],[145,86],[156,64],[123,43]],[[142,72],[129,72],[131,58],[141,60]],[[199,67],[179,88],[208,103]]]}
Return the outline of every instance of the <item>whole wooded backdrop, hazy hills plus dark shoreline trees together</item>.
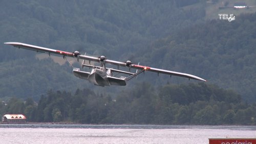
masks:
{"label": "whole wooded backdrop, hazy hills plus dark shoreline trees together", "polygon": [[[7,104],[0,104],[0,115],[24,113],[29,122],[255,125],[256,13],[206,20],[206,8],[197,0],[0,1],[0,101]],[[68,63],[39,59],[3,44],[8,41],[131,60],[207,82],[146,71],[125,87],[97,87],[75,78]]]}

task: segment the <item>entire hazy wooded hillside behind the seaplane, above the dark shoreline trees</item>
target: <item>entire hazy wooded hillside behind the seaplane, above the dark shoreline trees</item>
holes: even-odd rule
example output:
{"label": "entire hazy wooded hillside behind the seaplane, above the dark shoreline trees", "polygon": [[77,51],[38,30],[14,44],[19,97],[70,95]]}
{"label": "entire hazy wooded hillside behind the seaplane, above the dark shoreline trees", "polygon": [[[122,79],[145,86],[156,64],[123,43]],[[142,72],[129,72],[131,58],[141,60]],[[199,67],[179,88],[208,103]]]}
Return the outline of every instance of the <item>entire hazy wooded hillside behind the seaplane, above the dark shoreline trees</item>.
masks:
{"label": "entire hazy wooded hillside behind the seaplane, above the dark shoreline trees", "polygon": [[[187,7],[191,4],[197,7]],[[256,14],[204,21],[204,6],[200,1],[1,1],[0,97],[38,101],[50,88],[87,87],[111,95],[120,89],[95,87],[76,79],[68,64],[39,61],[35,52],[3,44],[18,41],[197,75],[255,101]],[[146,73],[121,89],[136,81],[156,87],[189,82]]]}

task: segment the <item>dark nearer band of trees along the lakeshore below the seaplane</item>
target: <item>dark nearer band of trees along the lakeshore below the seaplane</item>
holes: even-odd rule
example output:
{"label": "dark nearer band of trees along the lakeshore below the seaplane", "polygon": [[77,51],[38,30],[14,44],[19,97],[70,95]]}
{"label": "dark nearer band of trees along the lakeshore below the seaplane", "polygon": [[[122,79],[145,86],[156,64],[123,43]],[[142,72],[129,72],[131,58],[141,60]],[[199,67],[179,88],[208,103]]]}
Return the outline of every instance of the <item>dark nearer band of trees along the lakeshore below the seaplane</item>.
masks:
{"label": "dark nearer band of trees along the lakeshore below the seaplane", "polygon": [[[139,88],[138,88],[139,87]],[[23,113],[28,122],[78,124],[255,125],[256,104],[216,85],[138,83],[116,99],[90,89],[48,91],[38,105],[11,98],[2,113]]]}

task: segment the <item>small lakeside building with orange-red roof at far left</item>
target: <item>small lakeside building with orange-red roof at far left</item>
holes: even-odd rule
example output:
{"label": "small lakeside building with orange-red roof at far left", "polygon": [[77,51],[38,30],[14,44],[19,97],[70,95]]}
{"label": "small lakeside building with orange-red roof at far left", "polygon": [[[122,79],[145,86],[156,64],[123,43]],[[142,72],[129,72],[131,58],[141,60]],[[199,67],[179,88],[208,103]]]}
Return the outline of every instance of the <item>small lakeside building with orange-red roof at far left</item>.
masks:
{"label": "small lakeside building with orange-red roof at far left", "polygon": [[26,116],[23,114],[6,114],[2,117],[2,123],[26,123]]}

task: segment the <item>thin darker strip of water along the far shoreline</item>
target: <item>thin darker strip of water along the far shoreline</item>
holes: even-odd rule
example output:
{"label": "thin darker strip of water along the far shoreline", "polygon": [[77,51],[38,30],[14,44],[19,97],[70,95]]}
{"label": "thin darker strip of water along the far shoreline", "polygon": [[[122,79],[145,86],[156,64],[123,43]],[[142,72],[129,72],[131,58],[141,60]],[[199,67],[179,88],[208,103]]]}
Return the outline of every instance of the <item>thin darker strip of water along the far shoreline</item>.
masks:
{"label": "thin darker strip of water along the far shoreline", "polygon": [[256,126],[211,126],[211,125],[98,125],[74,123],[25,123],[25,124],[0,124],[0,128],[46,128],[46,129],[211,129],[211,130],[252,130]]}

